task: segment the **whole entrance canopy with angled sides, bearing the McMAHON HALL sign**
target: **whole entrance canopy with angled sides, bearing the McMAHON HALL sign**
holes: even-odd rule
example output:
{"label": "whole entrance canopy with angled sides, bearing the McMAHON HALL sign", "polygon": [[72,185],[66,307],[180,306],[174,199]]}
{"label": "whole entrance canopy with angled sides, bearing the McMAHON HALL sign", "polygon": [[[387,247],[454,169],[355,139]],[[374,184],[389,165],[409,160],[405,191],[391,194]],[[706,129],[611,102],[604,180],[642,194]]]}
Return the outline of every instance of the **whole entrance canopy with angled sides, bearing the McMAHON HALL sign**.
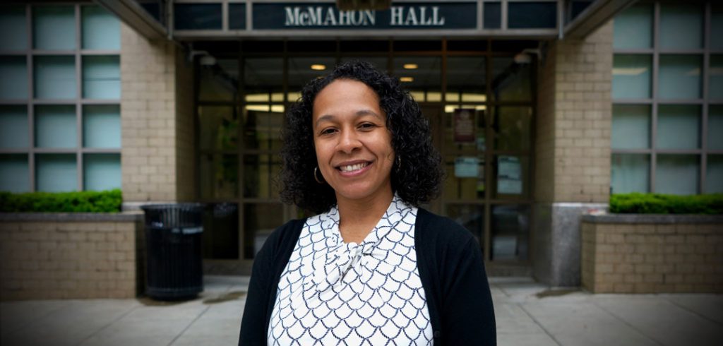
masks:
{"label": "whole entrance canopy with angled sides, bearing the McMAHON HALL sign", "polygon": [[634,0],[98,0],[149,39],[324,37],[582,38]]}

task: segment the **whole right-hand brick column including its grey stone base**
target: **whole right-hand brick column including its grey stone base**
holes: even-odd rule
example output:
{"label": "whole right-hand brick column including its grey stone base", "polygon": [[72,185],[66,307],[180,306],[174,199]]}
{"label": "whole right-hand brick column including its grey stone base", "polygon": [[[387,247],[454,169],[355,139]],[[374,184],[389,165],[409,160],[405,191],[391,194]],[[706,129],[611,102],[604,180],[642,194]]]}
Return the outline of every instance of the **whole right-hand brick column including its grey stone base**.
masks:
{"label": "whole right-hand brick column including its grey stone base", "polygon": [[612,21],[582,40],[557,40],[538,80],[534,274],[580,285],[580,215],[609,200]]}

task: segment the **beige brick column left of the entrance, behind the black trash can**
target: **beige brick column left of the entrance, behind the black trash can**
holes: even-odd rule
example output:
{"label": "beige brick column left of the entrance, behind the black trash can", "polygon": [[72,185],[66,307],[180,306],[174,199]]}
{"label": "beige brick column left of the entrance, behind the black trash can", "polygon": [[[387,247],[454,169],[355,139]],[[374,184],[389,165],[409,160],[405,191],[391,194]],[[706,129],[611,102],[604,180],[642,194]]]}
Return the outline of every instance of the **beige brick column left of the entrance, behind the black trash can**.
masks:
{"label": "beige brick column left of the entrance, behind the black trash can", "polygon": [[193,198],[192,79],[181,48],[121,25],[124,201]]}

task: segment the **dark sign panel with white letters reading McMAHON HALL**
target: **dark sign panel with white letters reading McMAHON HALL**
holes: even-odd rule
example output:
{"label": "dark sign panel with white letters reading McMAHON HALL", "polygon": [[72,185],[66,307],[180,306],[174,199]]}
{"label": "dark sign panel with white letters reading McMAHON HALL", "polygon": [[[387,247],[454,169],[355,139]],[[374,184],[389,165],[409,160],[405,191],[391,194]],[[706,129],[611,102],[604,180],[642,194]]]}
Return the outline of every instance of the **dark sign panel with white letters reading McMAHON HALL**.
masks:
{"label": "dark sign panel with white letters reading McMAHON HALL", "polygon": [[476,29],[476,2],[392,4],[383,11],[339,11],[329,3],[253,4],[254,30]]}

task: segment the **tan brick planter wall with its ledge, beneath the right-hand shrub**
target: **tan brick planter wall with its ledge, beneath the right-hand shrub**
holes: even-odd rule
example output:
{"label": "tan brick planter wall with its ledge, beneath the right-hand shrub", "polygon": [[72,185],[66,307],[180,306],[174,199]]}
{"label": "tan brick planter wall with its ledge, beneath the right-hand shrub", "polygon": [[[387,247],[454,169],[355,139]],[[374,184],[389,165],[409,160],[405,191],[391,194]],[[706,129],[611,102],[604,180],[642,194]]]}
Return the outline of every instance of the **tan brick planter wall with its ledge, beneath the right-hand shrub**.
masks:
{"label": "tan brick planter wall with its ledge, beneath the right-hand shrub", "polygon": [[593,293],[723,293],[723,216],[585,215],[581,228]]}

